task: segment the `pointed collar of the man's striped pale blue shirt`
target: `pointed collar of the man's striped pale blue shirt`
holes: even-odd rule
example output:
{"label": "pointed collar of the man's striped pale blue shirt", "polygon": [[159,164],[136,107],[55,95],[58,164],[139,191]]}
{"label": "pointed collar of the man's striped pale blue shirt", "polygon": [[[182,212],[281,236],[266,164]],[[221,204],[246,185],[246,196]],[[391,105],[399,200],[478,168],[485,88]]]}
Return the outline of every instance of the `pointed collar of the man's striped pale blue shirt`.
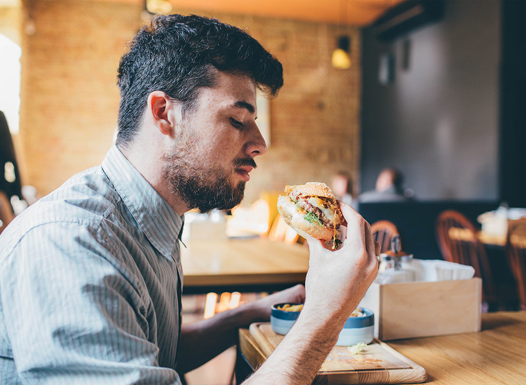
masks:
{"label": "pointed collar of the man's striped pale blue shirt", "polygon": [[101,166],[148,240],[171,260],[183,229],[183,217],[151,187],[117,146],[109,149]]}

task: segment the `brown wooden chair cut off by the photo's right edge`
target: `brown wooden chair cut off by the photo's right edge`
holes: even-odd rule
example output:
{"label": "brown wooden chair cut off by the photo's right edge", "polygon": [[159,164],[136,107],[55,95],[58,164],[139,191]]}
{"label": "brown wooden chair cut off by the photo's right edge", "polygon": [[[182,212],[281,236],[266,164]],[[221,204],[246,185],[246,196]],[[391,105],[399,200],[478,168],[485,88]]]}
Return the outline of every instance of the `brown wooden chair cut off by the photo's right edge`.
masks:
{"label": "brown wooden chair cut off by the photo's right edge", "polygon": [[510,221],[505,250],[517,285],[520,307],[526,310],[526,219]]}

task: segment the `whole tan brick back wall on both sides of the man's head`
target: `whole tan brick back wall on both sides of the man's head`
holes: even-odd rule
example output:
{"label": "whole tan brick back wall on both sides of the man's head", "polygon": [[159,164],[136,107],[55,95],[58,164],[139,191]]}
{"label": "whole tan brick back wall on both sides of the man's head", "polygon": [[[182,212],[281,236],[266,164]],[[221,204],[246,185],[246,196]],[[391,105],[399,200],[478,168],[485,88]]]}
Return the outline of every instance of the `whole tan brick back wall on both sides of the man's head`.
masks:
{"label": "whole tan brick back wall on both sides of the man's head", "polygon": [[[137,31],[139,5],[90,1],[26,1],[36,32],[23,36],[21,137],[25,183],[42,194],[99,164],[116,127],[116,69]],[[181,12],[180,10],[177,10]],[[191,10],[181,13],[193,13]],[[196,12],[197,13],[197,12]],[[246,28],[284,65],[285,85],[270,102],[271,146],[247,185],[247,203],[262,190],[335,171],[357,176],[360,51],[356,28],[249,16],[213,15]],[[352,41],[352,67],[330,57],[337,36]]]}

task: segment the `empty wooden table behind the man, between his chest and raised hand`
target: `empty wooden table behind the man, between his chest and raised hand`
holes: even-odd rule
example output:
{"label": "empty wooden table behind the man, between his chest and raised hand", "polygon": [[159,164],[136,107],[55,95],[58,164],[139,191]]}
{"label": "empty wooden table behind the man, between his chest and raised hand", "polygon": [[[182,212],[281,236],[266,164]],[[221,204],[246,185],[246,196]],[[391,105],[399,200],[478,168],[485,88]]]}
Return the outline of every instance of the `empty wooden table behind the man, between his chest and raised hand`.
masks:
{"label": "empty wooden table behind the man, between his chest and raised hand", "polygon": [[193,241],[181,264],[184,293],[273,291],[305,282],[309,249],[267,238]]}

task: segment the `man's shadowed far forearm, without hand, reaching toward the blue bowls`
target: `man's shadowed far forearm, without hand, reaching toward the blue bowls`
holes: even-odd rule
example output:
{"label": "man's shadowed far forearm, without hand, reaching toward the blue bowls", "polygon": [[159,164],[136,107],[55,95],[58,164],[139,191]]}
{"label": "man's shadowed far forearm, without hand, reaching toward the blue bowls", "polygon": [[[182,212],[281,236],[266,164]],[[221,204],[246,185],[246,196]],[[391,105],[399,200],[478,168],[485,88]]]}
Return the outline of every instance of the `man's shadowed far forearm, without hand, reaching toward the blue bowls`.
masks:
{"label": "man's shadowed far forearm, without hand, reaching toward the blue bowls", "polygon": [[252,303],[246,303],[236,309],[218,313],[210,319],[183,325],[177,371],[186,373],[193,370],[235,345],[238,329],[260,318]]}

